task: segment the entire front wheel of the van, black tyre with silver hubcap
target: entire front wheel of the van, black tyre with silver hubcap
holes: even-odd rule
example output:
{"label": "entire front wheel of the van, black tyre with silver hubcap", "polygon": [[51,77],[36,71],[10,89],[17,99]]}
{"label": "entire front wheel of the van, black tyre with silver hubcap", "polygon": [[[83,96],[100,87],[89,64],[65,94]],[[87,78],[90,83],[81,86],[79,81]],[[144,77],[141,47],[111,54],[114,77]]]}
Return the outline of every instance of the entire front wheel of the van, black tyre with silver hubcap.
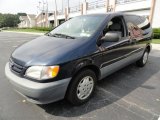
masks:
{"label": "entire front wheel of the van, black tyre with silver hubcap", "polygon": [[[67,90],[67,100],[73,105],[87,102],[95,90],[97,77],[94,71],[84,69],[71,81]],[[84,95],[83,95],[84,94]]]}

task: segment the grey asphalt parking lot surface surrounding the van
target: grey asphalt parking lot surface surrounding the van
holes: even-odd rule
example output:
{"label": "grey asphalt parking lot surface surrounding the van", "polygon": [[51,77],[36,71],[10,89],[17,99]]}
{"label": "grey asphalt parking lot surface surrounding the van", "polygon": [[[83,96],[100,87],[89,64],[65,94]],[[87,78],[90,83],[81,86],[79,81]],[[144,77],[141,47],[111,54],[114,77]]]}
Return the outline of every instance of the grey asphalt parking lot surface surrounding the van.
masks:
{"label": "grey asphalt parking lot surface surrounding the van", "polygon": [[13,50],[36,37],[0,33],[0,120],[158,120],[160,45],[153,45],[145,67],[132,64],[98,82],[94,96],[82,106],[71,106],[65,100],[36,105],[17,94],[4,74]]}

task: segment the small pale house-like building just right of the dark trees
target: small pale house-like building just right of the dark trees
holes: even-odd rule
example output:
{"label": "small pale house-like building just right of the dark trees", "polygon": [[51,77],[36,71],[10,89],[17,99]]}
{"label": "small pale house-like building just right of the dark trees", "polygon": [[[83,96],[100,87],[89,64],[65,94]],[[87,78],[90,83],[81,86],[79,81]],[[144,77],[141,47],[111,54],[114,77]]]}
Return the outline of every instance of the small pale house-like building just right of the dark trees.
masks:
{"label": "small pale house-like building just right of the dark trees", "polygon": [[27,16],[20,16],[20,23],[18,24],[19,28],[32,28],[36,26],[36,15],[27,14]]}

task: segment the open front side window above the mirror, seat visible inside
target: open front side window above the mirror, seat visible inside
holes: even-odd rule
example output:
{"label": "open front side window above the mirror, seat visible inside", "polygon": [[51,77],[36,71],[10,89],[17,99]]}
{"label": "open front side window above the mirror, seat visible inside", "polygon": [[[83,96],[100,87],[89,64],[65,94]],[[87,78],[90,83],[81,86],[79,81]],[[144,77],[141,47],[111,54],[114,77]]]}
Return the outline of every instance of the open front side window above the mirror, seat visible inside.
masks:
{"label": "open front side window above the mirror, seat visible inside", "polygon": [[116,32],[120,34],[122,38],[125,37],[126,32],[125,32],[123,18],[122,17],[112,18],[106,25],[105,29],[103,30],[103,35],[105,35],[107,32]]}

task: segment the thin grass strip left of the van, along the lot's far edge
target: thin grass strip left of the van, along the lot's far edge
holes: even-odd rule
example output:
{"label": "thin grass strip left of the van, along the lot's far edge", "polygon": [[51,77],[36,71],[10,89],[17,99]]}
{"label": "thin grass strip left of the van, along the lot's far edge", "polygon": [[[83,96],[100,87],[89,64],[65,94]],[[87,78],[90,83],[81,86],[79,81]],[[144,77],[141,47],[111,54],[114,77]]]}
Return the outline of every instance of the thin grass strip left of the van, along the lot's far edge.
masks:
{"label": "thin grass strip left of the van, along the lot's far edge", "polygon": [[34,33],[47,33],[48,31],[42,31],[42,30],[37,30],[37,29],[33,29],[33,28],[10,28],[7,29],[7,31],[13,31],[13,32],[34,32]]}

